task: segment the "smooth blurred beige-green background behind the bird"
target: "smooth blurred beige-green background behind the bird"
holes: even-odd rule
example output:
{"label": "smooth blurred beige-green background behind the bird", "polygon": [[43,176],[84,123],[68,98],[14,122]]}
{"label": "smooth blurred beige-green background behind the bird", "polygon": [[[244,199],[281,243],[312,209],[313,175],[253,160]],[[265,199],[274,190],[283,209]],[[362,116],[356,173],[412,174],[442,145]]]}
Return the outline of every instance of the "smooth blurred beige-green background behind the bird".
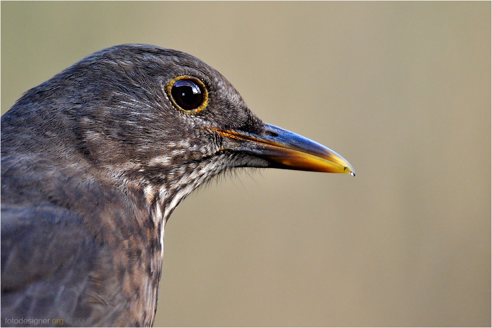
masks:
{"label": "smooth blurred beige-green background behind the bird", "polygon": [[190,195],[155,326],[491,325],[490,1],[2,1],[1,113],[122,43],[202,59],[357,172]]}

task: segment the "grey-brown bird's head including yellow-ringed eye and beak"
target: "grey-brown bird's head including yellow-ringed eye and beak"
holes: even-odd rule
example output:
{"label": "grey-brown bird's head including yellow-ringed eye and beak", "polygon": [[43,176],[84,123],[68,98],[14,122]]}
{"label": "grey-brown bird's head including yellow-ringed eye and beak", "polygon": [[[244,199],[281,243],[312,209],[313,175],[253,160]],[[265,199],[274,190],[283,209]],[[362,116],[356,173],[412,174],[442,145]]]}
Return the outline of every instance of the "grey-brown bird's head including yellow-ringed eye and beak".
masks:
{"label": "grey-brown bird's head including yellow-ringed eye and beak", "polygon": [[15,106],[18,119],[37,122],[43,135],[29,137],[26,128],[18,145],[81,163],[110,185],[140,191],[148,204],[171,203],[168,214],[201,183],[236,167],[354,175],[334,151],[263,123],[219,72],[175,50],[101,50]]}

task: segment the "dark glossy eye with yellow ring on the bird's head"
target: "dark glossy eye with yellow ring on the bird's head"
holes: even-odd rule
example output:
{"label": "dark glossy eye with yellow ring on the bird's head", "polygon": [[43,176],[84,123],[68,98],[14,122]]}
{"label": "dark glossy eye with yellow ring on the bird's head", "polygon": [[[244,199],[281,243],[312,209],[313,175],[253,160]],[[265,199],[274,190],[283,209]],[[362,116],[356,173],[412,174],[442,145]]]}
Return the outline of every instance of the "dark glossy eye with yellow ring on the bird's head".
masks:
{"label": "dark glossy eye with yellow ring on the bird's head", "polygon": [[191,76],[178,76],[167,86],[173,103],[186,113],[198,113],[207,106],[208,92],[202,81]]}

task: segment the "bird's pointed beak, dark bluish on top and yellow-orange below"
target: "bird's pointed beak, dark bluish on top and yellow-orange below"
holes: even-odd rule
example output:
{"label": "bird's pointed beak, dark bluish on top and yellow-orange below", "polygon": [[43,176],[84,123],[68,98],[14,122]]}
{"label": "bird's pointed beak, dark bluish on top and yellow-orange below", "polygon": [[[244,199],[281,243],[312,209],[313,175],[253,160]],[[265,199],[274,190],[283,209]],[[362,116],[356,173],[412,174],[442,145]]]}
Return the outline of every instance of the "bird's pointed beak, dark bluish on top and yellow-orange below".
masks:
{"label": "bird's pointed beak, dark bluish on top and yellow-orange below", "polygon": [[224,140],[222,150],[244,152],[268,161],[269,167],[301,171],[350,173],[355,171],[343,157],[333,150],[302,135],[264,124],[262,134],[245,131],[214,129]]}

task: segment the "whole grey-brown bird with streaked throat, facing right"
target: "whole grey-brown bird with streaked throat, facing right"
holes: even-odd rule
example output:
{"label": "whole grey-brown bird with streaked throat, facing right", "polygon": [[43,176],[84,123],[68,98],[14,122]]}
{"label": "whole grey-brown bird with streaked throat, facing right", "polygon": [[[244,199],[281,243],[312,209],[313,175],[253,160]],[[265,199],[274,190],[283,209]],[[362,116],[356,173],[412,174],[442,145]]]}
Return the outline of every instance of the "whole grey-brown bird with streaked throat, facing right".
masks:
{"label": "whole grey-brown bird with streaked throat, facing right", "polygon": [[150,327],[165,224],[198,186],[245,167],[355,175],[264,123],[211,66],[146,44],[27,91],[0,149],[2,326]]}

